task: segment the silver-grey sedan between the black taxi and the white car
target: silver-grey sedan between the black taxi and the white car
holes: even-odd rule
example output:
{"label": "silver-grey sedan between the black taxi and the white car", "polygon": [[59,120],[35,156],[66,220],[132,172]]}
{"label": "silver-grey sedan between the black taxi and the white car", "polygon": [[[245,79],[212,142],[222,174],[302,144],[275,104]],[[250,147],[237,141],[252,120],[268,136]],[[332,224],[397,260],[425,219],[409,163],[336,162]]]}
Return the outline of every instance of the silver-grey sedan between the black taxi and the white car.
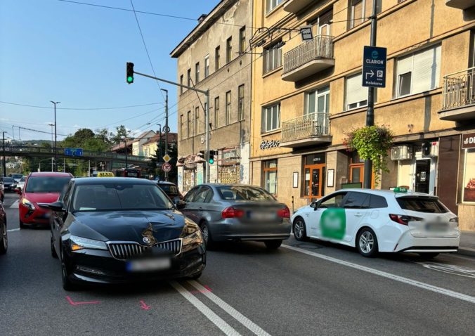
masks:
{"label": "silver-grey sedan between the black taxi and the white car", "polygon": [[188,191],[180,208],[202,229],[211,245],[225,240],[258,240],[277,249],[289,238],[289,208],[263,188],[243,184],[200,184]]}

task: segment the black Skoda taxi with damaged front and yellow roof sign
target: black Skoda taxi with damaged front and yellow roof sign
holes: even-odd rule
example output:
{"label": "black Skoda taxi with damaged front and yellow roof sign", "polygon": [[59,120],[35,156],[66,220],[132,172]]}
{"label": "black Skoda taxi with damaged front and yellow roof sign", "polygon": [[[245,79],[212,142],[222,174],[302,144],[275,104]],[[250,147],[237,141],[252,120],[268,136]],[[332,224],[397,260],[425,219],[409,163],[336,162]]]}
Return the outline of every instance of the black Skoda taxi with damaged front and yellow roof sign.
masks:
{"label": "black Skoda taxi with damaged front and yellow roof sign", "polygon": [[52,210],[51,254],[63,288],[89,283],[198,278],[206,264],[200,228],[145,179],[72,179]]}

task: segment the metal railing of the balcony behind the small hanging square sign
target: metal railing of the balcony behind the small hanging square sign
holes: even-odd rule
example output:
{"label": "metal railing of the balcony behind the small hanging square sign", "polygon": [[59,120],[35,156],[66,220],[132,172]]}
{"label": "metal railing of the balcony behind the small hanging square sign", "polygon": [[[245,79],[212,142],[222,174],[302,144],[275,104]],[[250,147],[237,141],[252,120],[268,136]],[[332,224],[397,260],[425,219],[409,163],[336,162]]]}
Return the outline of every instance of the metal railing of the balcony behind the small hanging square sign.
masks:
{"label": "metal railing of the balcony behind the small hanging square sign", "polygon": [[311,60],[333,58],[333,37],[317,35],[284,54],[284,73],[297,69]]}

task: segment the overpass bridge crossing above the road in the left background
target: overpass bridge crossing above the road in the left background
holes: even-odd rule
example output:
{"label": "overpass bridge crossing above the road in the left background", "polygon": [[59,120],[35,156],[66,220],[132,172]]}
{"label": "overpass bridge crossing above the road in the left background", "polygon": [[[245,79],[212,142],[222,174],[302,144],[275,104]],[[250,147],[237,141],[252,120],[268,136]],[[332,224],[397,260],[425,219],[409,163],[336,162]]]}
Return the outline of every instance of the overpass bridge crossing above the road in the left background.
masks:
{"label": "overpass bridge crossing above the road in the left background", "polygon": [[[0,146],[0,153],[3,148]],[[21,157],[54,157],[54,148],[39,146],[5,146],[5,156],[21,156]],[[117,154],[113,152],[95,152],[93,150],[83,150],[82,156],[65,155],[64,148],[58,148],[58,159],[74,159],[74,160],[96,160],[125,164],[125,154]],[[150,157],[127,155],[127,164],[134,166],[146,167],[150,163]]]}

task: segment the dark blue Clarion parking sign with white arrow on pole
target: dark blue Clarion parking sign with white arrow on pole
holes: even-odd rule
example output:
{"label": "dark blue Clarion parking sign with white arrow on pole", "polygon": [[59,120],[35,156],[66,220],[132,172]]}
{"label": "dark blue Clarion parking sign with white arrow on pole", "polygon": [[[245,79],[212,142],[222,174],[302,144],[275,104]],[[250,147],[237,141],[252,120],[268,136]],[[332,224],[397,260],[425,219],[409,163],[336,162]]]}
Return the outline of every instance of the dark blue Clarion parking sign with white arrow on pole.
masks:
{"label": "dark blue Clarion parking sign with white arrow on pole", "polygon": [[363,86],[386,87],[386,48],[364,47]]}

